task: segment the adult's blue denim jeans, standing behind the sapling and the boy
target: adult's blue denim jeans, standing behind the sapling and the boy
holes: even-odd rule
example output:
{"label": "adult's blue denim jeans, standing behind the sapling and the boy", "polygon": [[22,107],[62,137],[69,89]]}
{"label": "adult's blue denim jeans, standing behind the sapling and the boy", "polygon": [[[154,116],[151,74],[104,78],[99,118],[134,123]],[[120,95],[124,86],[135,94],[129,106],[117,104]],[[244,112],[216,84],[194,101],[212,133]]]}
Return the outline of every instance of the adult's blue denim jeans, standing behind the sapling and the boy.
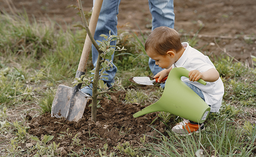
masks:
{"label": "adult's blue denim jeans, standing behind the sapling and the boy", "polygon": [[[93,0],[93,4],[95,4],[95,0]],[[95,40],[104,40],[104,38],[99,37],[99,35],[108,35],[109,30],[111,31],[112,35],[117,35],[117,14],[119,12],[119,4],[120,0],[103,0],[94,35]],[[150,13],[152,14],[152,30],[159,26],[167,26],[171,28],[174,27],[173,0],[148,0],[148,5]],[[115,46],[116,41],[111,42],[111,45]],[[92,57],[93,65],[96,66],[98,51],[95,49],[94,46],[92,46]],[[112,55],[111,60],[113,61],[113,59],[114,54]],[[157,66],[155,64],[155,61],[151,58],[149,59],[148,65],[154,75],[162,70],[162,68]],[[112,69],[104,71],[104,73],[108,74],[106,75],[106,77],[108,77],[108,80],[103,80],[108,84],[108,86],[111,82],[114,82],[116,72],[117,67],[114,64]],[[161,84],[161,86],[164,87],[163,84]]]}

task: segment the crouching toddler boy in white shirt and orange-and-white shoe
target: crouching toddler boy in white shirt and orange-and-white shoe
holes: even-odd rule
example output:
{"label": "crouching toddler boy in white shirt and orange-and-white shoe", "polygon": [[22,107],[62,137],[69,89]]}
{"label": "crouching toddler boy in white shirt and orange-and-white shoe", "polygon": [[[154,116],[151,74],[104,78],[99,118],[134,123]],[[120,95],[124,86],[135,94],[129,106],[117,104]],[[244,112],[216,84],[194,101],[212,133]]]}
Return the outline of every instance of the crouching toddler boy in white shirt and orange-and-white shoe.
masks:
{"label": "crouching toddler boy in white shirt and orange-and-white shoe", "polygon": [[[211,112],[219,111],[224,86],[219,72],[208,56],[192,48],[187,42],[181,43],[178,32],[165,26],[152,31],[145,42],[145,50],[150,58],[156,60],[156,65],[164,69],[154,76],[159,77],[158,82],[161,82],[171,69],[186,68],[189,71],[189,79],[182,77],[182,81],[211,107]],[[196,82],[199,79],[206,81],[206,85]],[[199,130],[204,130],[203,123],[198,124],[186,119],[172,129],[178,135],[190,135]]]}

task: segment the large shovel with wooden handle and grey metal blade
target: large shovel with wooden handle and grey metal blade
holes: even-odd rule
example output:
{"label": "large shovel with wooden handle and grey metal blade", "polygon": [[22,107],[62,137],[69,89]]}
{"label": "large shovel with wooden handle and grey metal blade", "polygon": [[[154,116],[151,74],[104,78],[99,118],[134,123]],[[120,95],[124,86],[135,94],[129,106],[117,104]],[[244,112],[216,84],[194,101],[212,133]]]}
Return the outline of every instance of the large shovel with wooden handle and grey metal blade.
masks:
{"label": "large shovel with wooden handle and grey metal blade", "polygon": [[[89,24],[89,30],[93,36],[98,22],[102,2],[103,0],[96,0],[93,7],[93,13]],[[85,66],[91,51],[91,45],[92,42],[87,34],[75,78],[80,78],[85,74]],[[80,90],[81,86],[82,84],[78,84],[73,88],[64,85],[58,86],[56,95],[52,102],[52,117],[65,117],[70,121],[78,121],[82,118],[87,99],[90,96]]]}

